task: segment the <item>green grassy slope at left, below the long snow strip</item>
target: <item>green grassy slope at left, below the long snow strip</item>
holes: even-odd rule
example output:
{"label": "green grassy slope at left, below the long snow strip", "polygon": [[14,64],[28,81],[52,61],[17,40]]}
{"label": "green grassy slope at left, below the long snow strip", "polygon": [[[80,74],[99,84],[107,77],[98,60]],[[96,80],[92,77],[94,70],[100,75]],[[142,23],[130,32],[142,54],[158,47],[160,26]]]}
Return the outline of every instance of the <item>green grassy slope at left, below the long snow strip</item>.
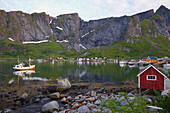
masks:
{"label": "green grassy slope at left, below the long snow strip", "polygon": [[21,42],[12,42],[8,39],[0,41],[0,56],[1,58],[5,56],[31,58],[49,58],[60,55],[65,50],[63,44],[58,44],[56,42],[47,42],[41,44],[27,44],[24,45]]}

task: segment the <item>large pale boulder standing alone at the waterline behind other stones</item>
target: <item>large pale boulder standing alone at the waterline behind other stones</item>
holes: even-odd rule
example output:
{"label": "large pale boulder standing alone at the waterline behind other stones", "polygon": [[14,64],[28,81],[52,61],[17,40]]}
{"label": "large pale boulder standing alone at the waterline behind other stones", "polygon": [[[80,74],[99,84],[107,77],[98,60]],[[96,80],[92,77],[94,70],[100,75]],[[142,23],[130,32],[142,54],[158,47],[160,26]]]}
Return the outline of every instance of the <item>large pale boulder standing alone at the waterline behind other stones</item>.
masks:
{"label": "large pale boulder standing alone at the waterline behind other stones", "polygon": [[57,83],[58,91],[64,91],[64,90],[69,89],[70,87],[71,87],[71,84],[67,78],[65,78],[63,80],[58,80],[58,83]]}

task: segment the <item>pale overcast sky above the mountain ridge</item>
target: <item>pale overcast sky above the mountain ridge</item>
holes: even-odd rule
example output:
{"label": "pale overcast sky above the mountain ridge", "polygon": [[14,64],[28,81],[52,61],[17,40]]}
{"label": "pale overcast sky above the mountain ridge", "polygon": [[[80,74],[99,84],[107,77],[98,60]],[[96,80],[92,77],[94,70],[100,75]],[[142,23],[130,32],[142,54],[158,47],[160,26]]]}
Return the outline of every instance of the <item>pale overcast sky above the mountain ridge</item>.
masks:
{"label": "pale overcast sky above the mountain ridge", "polygon": [[0,0],[5,11],[45,12],[53,17],[76,12],[86,21],[156,11],[161,5],[170,8],[170,0]]}

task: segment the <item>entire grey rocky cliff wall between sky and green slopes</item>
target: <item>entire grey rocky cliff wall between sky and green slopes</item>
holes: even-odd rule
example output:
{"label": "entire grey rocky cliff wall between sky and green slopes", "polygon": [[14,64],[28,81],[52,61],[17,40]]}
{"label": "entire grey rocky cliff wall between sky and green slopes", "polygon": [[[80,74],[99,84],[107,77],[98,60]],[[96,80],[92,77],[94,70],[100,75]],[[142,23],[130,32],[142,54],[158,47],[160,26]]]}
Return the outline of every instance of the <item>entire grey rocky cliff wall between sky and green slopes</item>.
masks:
{"label": "entire grey rocky cliff wall between sky and green slopes", "polygon": [[[68,50],[76,51],[96,46],[106,46],[130,37],[154,37],[160,35],[170,40],[170,10],[161,6],[155,13],[149,10],[133,16],[82,20],[77,13],[52,18],[45,13],[0,11],[0,39],[18,41],[49,39],[65,42]],[[53,36],[53,37],[49,37]],[[140,40],[139,40],[140,41]],[[131,41],[129,41],[131,42]]]}

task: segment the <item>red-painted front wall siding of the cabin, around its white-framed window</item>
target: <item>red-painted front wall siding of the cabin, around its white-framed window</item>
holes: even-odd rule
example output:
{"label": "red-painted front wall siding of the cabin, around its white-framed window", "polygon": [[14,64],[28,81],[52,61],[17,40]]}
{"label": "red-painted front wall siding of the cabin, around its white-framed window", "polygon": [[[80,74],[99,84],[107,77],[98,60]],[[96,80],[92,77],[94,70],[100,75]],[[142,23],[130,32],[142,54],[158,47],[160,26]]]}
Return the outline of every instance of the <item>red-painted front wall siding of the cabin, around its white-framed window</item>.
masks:
{"label": "red-painted front wall siding of the cabin, around its white-framed window", "polygon": [[[156,80],[147,80],[147,75],[156,75]],[[140,88],[164,90],[164,76],[150,67],[140,75]]]}

